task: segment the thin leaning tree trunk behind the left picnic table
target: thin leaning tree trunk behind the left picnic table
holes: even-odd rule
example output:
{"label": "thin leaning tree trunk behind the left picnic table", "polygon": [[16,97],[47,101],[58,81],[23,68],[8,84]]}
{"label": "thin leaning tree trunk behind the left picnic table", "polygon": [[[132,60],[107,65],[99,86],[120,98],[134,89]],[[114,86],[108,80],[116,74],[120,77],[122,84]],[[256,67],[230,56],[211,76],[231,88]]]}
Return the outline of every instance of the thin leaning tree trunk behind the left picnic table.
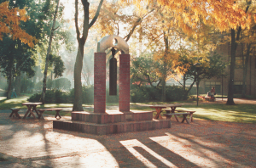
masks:
{"label": "thin leaning tree trunk behind the left picnic table", "polygon": [[50,35],[49,35],[49,46],[48,46],[47,54],[46,54],[46,58],[45,58],[43,92],[42,92],[42,97],[41,97],[41,102],[43,104],[45,102],[47,70],[48,70],[48,64],[49,64],[49,53],[50,53],[50,49],[51,49],[52,37],[54,36],[54,31],[55,31],[55,20],[56,20],[56,16],[57,16],[57,13],[58,13],[59,3],[60,3],[60,0],[57,1],[57,5],[56,5],[56,8],[55,8],[54,20],[53,20],[53,24],[52,24]]}

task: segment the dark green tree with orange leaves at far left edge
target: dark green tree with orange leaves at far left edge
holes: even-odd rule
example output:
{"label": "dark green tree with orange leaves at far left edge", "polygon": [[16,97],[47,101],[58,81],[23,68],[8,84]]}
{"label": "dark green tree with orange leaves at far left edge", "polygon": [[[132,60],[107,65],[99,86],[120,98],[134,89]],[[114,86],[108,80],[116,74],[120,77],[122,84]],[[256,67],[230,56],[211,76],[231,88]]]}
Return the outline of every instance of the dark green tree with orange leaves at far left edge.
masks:
{"label": "dark green tree with orange leaves at far left edge", "polygon": [[[1,1],[0,3],[3,4]],[[9,10],[7,10],[6,13],[3,14],[2,21],[4,22],[4,24],[9,25],[9,31],[4,31],[4,34],[1,33],[3,41],[1,41],[2,45],[0,47],[2,53],[0,55],[0,66],[2,68],[4,76],[6,76],[9,81],[7,98],[10,98],[14,76],[16,83],[19,83],[21,72],[26,72],[26,75],[30,77],[34,74],[34,71],[32,70],[32,66],[34,66],[35,64],[34,58],[32,57],[34,49],[31,47],[34,46],[33,42],[37,42],[36,37],[38,36],[36,33],[34,33],[34,31],[30,30],[30,28],[32,28],[33,26],[33,20],[27,20],[28,17],[26,16],[26,10],[18,9],[26,7],[27,4],[32,4],[32,1],[19,1],[16,3],[10,1],[10,3],[4,3],[7,6],[4,6],[3,11],[6,11],[4,10],[6,8],[9,8]],[[9,14],[15,15],[9,16]],[[19,17],[17,18],[17,16]],[[3,25],[3,28],[4,26],[5,25]],[[29,34],[31,34],[32,36],[28,35],[27,32],[29,32]],[[16,90],[19,95],[20,83],[18,86],[19,87],[17,87]]]}

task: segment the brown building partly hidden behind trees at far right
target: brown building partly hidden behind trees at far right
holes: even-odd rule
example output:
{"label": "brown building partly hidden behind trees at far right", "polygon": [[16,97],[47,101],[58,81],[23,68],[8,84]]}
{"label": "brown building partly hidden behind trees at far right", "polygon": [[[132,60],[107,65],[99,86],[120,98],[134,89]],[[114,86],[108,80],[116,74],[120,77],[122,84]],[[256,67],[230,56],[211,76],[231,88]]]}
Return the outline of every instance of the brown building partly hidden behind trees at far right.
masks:
{"label": "brown building partly hidden behind trees at far right", "polygon": [[[231,45],[226,44],[218,47],[216,52],[224,57],[227,63],[230,63],[230,49]],[[247,78],[246,78],[246,94],[256,96],[256,59],[255,49],[251,53],[248,66],[247,66]],[[243,80],[243,66],[245,62],[245,55],[242,53],[242,45],[238,44],[236,50],[236,69],[234,79],[234,94],[241,94],[242,80]],[[207,93],[212,87],[216,88],[217,94],[228,94],[229,77],[230,76],[230,65],[225,69],[224,76],[221,78],[212,78],[209,80],[202,80],[200,82],[201,93]]]}

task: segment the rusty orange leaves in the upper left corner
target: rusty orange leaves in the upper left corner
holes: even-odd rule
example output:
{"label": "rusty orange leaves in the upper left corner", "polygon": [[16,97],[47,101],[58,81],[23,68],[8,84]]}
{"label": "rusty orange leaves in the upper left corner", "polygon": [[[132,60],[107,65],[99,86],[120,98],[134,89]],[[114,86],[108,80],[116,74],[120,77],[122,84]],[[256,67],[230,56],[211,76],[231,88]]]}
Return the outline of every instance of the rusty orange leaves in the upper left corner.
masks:
{"label": "rusty orange leaves in the upper left corner", "polygon": [[20,28],[20,21],[28,20],[24,8],[9,8],[9,2],[3,2],[0,4],[0,18],[0,40],[3,40],[3,34],[8,34],[13,40],[20,39],[29,47],[34,47],[37,39]]}

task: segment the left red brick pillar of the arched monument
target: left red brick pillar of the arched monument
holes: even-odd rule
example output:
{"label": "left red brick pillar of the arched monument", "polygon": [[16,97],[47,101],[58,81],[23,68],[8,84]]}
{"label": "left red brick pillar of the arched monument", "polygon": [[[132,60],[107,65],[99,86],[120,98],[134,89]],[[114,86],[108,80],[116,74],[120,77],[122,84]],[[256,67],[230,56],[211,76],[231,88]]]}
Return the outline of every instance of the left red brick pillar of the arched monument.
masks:
{"label": "left red brick pillar of the arched monument", "polygon": [[106,111],[106,53],[94,53],[94,113]]}

